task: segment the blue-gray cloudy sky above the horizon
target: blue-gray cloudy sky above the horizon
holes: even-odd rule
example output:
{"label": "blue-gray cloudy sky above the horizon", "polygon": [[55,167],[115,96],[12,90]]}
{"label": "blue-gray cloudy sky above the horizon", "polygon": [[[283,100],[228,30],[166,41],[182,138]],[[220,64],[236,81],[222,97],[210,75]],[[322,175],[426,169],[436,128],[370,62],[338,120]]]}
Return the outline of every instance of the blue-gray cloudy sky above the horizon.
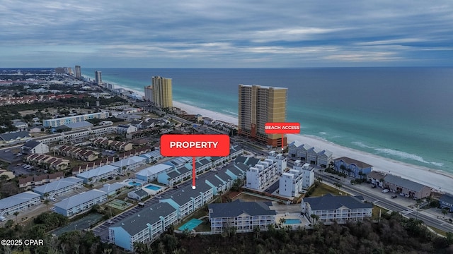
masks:
{"label": "blue-gray cloudy sky above the horizon", "polygon": [[0,67],[453,66],[453,1],[2,0]]}

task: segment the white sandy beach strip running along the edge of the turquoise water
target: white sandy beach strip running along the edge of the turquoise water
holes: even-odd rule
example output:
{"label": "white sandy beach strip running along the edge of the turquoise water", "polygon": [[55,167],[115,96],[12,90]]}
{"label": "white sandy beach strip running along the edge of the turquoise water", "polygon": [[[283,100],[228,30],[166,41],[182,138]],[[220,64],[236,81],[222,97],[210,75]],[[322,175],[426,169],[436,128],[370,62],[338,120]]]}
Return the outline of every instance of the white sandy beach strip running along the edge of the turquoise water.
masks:
{"label": "white sandy beach strip running along the edge of the turquoise water", "polygon": [[[115,88],[131,90],[144,96],[144,92],[140,92],[129,87],[123,87],[115,84]],[[234,116],[210,111],[208,109],[202,109],[183,102],[173,101],[173,107],[183,109],[188,114],[201,114],[202,116],[207,116],[215,120],[226,121],[234,123],[235,125],[238,124],[238,119]],[[430,169],[428,167],[408,164],[406,162],[399,162],[395,159],[389,159],[371,154],[369,152],[363,152],[350,147],[337,145],[312,135],[287,134],[287,138],[288,143],[291,143],[294,140],[299,140],[302,143],[319,147],[322,150],[329,150],[333,153],[333,158],[350,157],[352,159],[357,159],[367,164],[371,164],[373,166],[373,171],[382,171],[384,174],[400,176],[403,179],[408,179],[421,183],[425,186],[429,186],[433,191],[453,193],[453,174],[449,174],[448,172],[440,169]]]}

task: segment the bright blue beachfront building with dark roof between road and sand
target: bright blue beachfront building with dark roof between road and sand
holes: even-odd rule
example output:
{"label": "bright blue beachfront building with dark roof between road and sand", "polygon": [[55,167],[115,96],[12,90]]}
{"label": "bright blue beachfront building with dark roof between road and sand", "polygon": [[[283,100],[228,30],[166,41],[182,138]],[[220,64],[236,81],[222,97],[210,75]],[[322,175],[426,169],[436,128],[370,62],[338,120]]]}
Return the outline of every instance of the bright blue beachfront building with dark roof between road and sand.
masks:
{"label": "bright blue beachfront building with dark roof between road and sand", "polygon": [[360,162],[349,157],[340,157],[333,160],[333,167],[338,172],[343,172],[355,179],[366,179],[367,174],[372,171],[372,165]]}

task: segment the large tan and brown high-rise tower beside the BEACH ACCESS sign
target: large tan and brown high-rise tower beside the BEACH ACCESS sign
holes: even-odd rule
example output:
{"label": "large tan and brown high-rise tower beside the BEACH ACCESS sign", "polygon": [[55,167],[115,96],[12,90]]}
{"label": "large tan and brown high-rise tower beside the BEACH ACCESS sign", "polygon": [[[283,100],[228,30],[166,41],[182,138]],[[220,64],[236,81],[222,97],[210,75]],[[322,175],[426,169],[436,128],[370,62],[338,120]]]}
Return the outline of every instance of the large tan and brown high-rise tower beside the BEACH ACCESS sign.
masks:
{"label": "large tan and brown high-rise tower beside the BEACH ACCESS sign", "polygon": [[286,121],[287,88],[239,85],[239,135],[273,147],[287,145],[281,134],[266,134],[265,123]]}

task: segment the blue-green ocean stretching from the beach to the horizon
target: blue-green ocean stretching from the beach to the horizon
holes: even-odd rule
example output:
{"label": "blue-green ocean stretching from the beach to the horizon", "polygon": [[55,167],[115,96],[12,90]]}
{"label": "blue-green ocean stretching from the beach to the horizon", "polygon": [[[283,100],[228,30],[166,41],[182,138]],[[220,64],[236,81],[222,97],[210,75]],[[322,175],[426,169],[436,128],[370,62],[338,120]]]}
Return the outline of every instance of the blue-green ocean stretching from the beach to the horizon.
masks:
{"label": "blue-green ocean stretching from the beach to the horizon", "polygon": [[[453,68],[83,68],[144,92],[173,79],[173,99],[237,116],[238,85],[288,88],[302,134],[453,173]],[[360,159],[360,158],[356,158]]]}

